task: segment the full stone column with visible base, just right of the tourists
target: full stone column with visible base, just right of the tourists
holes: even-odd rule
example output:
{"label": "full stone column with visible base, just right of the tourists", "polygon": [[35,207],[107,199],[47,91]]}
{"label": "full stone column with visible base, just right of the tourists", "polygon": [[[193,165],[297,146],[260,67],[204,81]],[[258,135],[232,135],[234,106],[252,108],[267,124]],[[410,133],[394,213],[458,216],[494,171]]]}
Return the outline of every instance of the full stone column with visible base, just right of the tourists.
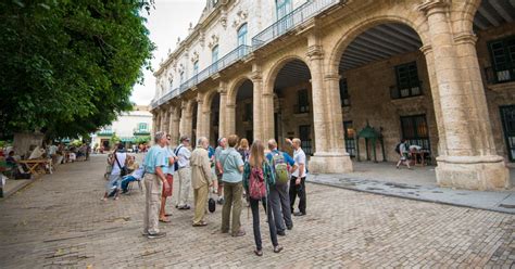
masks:
{"label": "full stone column with visible base, just right of the tourists", "polygon": [[350,172],[353,168],[351,158],[344,150],[338,78],[324,74],[324,52],[315,34],[307,38],[307,44],[315,130],[315,153],[310,159],[310,170]]}

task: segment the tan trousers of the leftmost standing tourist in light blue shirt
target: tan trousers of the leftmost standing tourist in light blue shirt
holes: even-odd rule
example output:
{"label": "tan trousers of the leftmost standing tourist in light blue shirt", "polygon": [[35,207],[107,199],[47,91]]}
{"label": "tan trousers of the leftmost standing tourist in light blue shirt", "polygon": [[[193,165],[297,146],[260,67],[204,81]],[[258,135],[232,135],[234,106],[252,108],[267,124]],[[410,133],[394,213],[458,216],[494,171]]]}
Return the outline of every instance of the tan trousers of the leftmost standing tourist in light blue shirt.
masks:
{"label": "tan trousers of the leftmost standing tourist in light blue shirt", "polygon": [[163,181],[153,174],[145,175],[145,216],[143,233],[159,233],[159,209]]}

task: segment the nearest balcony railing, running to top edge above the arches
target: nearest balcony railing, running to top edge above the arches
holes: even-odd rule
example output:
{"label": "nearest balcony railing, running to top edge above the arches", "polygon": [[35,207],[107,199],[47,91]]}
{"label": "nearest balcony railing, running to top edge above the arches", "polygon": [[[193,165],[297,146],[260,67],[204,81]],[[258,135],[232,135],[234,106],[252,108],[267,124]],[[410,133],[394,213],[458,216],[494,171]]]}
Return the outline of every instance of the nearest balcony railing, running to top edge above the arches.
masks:
{"label": "nearest balcony railing, running to top edge above the arches", "polygon": [[254,36],[252,38],[252,48],[258,50],[339,2],[340,0],[310,0],[305,2]]}

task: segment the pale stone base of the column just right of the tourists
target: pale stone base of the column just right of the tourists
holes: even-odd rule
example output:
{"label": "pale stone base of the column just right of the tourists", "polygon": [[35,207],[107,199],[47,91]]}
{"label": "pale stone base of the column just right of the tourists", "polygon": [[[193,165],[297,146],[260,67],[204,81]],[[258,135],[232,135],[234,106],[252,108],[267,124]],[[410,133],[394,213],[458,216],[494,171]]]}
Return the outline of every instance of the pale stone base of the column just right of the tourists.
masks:
{"label": "pale stone base of the column just right of the tourists", "polygon": [[315,153],[307,163],[307,169],[313,174],[352,172],[352,161],[348,153]]}

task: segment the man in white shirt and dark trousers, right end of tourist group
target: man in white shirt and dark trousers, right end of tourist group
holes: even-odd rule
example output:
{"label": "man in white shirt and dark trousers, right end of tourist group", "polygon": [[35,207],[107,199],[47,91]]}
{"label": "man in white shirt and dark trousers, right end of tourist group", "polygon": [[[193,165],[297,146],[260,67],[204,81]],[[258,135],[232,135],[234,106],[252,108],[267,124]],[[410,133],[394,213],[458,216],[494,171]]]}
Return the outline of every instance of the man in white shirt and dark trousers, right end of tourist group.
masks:
{"label": "man in white shirt and dark trousers, right end of tourist group", "polygon": [[[296,165],[293,167],[293,172],[291,174],[290,179],[290,205],[291,213],[293,216],[304,216],[305,215],[305,174],[306,174],[306,157],[305,153],[301,148],[301,140],[294,138],[293,141],[287,139],[287,143],[291,144],[293,148],[293,159]],[[297,168],[296,168],[297,167]],[[293,213],[293,206],[296,204],[296,198],[299,196],[299,212]]]}

